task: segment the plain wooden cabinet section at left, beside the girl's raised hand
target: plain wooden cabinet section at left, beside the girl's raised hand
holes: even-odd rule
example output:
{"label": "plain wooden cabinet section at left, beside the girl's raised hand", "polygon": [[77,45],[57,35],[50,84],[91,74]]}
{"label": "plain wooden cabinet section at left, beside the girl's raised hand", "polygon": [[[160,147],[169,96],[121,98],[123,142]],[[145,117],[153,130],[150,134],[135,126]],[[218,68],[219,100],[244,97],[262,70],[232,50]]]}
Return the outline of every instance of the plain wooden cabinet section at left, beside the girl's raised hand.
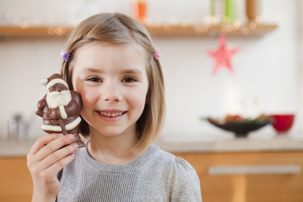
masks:
{"label": "plain wooden cabinet section at left, beside the girl's raised hand", "polygon": [[0,201],[32,200],[33,183],[26,157],[0,158]]}

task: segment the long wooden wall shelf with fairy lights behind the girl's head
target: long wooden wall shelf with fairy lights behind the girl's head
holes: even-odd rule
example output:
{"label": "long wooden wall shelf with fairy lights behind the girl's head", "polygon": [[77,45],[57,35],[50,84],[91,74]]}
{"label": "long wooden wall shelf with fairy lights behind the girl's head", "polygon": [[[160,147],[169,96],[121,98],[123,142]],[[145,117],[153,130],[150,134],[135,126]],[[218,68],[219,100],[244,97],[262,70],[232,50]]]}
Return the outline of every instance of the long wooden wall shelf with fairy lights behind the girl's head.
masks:
{"label": "long wooden wall shelf with fairy lights behind the girl's head", "polygon": [[[228,26],[228,25],[227,25]],[[147,29],[152,33],[153,37],[213,37],[220,33],[225,33],[227,36],[236,37],[251,37],[251,36],[263,36],[264,34],[276,29],[278,26],[276,24],[256,24],[255,29],[249,29],[249,25],[240,27],[237,30],[232,30],[230,32],[226,31],[226,25],[216,25],[209,26],[206,25],[195,25],[182,27],[180,25],[175,25],[171,27],[161,26],[160,28],[148,27]],[[228,28],[228,27],[227,27]],[[243,34],[243,29],[249,31],[248,35]],[[71,27],[63,29],[63,33],[49,34],[49,27],[29,27],[27,29],[22,29],[20,27],[0,27],[0,39],[9,38],[45,38],[45,37],[66,37],[67,33],[72,30]],[[225,30],[225,31],[224,31]]]}

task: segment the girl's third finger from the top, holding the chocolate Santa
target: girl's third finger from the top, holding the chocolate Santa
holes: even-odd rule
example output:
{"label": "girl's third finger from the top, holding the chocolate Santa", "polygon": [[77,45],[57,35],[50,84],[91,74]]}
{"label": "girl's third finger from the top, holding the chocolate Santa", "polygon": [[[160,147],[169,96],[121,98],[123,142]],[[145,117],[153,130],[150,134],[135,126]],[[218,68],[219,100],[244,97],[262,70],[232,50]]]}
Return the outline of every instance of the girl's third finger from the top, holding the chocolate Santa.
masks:
{"label": "girl's third finger from the top, holding the chocolate Santa", "polygon": [[64,157],[68,156],[69,154],[72,154],[77,149],[78,149],[78,144],[77,143],[72,143],[72,144],[70,144],[70,145],[68,145],[66,147],[63,147],[63,148],[59,149],[59,150],[51,153],[45,159],[41,160],[39,162],[39,168],[41,168],[41,169],[47,169],[48,167],[50,167],[51,165],[53,165],[56,162],[60,161]]}

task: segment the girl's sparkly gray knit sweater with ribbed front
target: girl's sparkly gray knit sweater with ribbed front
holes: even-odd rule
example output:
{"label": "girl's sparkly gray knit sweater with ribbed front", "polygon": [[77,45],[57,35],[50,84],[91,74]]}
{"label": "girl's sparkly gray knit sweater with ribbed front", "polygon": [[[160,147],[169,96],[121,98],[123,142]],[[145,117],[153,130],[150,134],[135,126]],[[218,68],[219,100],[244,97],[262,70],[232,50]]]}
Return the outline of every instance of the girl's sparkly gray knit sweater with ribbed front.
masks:
{"label": "girl's sparkly gray knit sweater with ribbed front", "polygon": [[58,179],[59,202],[202,201],[193,167],[155,144],[126,165],[99,163],[90,157],[86,147],[79,148]]}

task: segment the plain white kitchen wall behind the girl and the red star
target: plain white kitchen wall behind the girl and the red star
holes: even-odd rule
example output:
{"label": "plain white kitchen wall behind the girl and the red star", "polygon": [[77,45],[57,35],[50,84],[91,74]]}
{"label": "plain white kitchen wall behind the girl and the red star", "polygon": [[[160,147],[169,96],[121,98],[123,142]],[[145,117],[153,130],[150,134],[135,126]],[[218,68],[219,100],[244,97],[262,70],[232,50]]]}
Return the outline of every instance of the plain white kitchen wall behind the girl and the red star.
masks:
{"label": "plain white kitchen wall behind the girl and the red star", "polygon": [[[130,13],[130,1],[82,0],[77,1],[79,5],[72,2],[0,0],[0,22],[11,23],[3,21],[7,11],[29,19],[40,16],[45,25],[70,25],[90,14],[105,11]],[[222,117],[226,113],[244,116],[296,113],[292,132],[301,132],[303,81],[299,68],[302,61],[298,57],[302,52],[297,41],[298,5],[302,7],[301,0],[261,1],[260,14],[264,22],[277,22],[279,27],[261,38],[227,38],[229,48],[241,48],[231,61],[234,73],[222,68],[216,75],[212,74],[214,61],[206,51],[217,48],[217,38],[155,39],[156,48],[161,50],[166,85],[167,114],[163,136],[185,140],[224,134],[200,121],[199,117]],[[48,15],[53,15],[55,20],[47,22]],[[159,15],[162,22],[167,22],[171,16],[181,20],[191,17],[202,22],[203,17],[209,15],[209,1],[149,1],[148,16],[155,19]],[[302,22],[300,25],[303,26]],[[301,45],[302,41],[300,37]],[[39,81],[59,72],[62,62],[59,55],[65,46],[64,39],[0,41],[0,139],[7,138],[7,122],[15,113],[30,122],[30,138],[43,133],[40,129],[42,120],[34,114],[37,101],[45,94]],[[274,131],[266,126],[254,134],[262,133],[274,134]]]}

